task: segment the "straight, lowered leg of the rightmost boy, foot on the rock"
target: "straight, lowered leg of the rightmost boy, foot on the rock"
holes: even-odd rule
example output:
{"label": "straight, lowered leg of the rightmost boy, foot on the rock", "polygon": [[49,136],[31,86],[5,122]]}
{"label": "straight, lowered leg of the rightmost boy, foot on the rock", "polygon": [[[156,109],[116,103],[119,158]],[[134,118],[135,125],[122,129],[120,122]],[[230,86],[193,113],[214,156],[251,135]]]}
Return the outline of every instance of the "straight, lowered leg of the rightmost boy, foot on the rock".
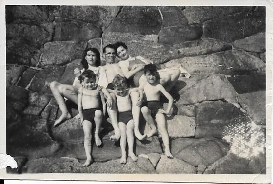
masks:
{"label": "straight, lowered leg of the rightmost boy, foot on the rock", "polygon": [[170,151],[170,142],[169,142],[169,135],[168,135],[167,126],[166,126],[165,115],[156,114],[156,122],[157,122],[158,131],[162,136],[162,141],[165,147],[165,155],[168,158],[173,158],[173,155],[171,154],[171,151]]}

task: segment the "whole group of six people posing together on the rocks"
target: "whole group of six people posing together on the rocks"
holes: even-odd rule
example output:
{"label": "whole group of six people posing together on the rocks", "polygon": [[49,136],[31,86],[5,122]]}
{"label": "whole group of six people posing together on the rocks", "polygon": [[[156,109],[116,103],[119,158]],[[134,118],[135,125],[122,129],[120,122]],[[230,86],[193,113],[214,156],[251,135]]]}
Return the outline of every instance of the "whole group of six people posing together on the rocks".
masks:
{"label": "whole group of six people posing together on the rocks", "polygon": [[[143,140],[155,135],[157,129],[162,136],[165,155],[173,158],[165,118],[173,105],[169,91],[181,74],[189,77],[188,72],[181,66],[157,70],[156,65],[150,60],[140,56],[131,57],[123,42],[106,45],[102,56],[106,61],[104,66],[100,66],[100,53],[96,48],[86,49],[81,61],[83,69],[74,70],[76,77],[73,85],[51,82],[51,91],[62,112],[54,126],[72,118],[66,100],[78,105],[79,114],[76,118],[80,118],[83,127],[87,158],[83,166],[89,166],[93,162],[91,140],[94,126],[95,144],[97,146],[102,144],[99,129],[106,114],[114,128],[114,135],[110,139],[117,141],[120,138],[122,155],[120,163],[126,164],[127,143],[128,156],[137,161],[137,156],[133,152],[134,135],[137,139]],[[160,102],[161,94],[168,99],[166,110]],[[139,131],[140,113],[151,128],[144,135]]]}

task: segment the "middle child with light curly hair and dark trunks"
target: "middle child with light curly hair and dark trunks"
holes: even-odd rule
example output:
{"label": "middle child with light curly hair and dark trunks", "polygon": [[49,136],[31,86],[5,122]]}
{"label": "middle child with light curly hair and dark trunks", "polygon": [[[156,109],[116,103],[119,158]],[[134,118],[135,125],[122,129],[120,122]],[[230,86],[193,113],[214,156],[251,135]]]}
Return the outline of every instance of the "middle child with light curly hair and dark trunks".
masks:
{"label": "middle child with light curly hair and dark trunks", "polygon": [[121,148],[121,164],[126,164],[126,139],[128,142],[128,156],[133,161],[137,161],[137,156],[133,152],[134,145],[134,121],[132,116],[131,92],[137,91],[137,88],[127,89],[126,78],[116,75],[113,79],[113,92],[117,98],[118,108],[118,126],[120,129],[120,148]]}

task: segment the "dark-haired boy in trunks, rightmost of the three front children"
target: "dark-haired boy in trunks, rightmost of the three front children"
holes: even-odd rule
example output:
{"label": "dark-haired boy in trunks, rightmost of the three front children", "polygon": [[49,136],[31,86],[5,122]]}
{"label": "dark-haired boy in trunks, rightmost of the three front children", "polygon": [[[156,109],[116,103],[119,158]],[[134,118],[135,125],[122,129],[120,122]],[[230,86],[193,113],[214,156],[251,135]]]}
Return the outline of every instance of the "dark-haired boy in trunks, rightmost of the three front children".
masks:
{"label": "dark-haired boy in trunks, rightmost of the three front children", "polygon": [[[157,79],[156,65],[148,64],[144,67],[144,75],[147,79],[146,83],[143,83],[139,87],[140,99],[142,102],[143,92],[147,98],[147,105],[141,108],[144,119],[151,127],[151,131],[147,134],[147,137],[152,137],[156,133],[156,126],[154,119],[156,119],[158,131],[162,136],[163,144],[165,146],[165,155],[169,158],[173,158],[169,147],[169,135],[166,127],[166,118],[164,114],[169,114],[173,105],[173,97],[165,90],[165,88],[159,84]],[[162,93],[168,100],[167,110],[163,110],[160,105],[160,93]]]}

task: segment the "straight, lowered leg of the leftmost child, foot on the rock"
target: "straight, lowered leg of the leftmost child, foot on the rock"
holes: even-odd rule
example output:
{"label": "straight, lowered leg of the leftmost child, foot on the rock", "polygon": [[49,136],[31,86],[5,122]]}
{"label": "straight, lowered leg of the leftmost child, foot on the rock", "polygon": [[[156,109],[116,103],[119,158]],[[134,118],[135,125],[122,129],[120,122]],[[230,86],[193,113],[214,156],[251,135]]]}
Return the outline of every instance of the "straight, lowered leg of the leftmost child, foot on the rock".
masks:
{"label": "straight, lowered leg of the leftmost child, foot on the rock", "polygon": [[84,150],[86,154],[86,162],[83,164],[83,166],[89,166],[93,162],[91,150],[92,123],[90,121],[84,120],[82,127],[84,132]]}

